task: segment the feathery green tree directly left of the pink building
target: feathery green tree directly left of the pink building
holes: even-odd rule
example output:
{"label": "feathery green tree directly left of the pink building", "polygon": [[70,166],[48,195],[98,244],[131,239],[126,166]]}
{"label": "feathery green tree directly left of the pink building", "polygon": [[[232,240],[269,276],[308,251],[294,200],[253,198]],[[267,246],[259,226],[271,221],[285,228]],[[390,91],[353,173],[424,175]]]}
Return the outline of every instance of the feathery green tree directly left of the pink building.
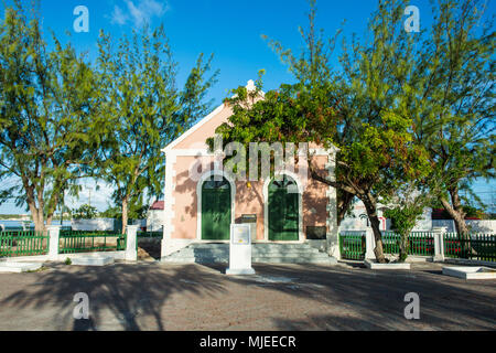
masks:
{"label": "feathery green tree directly left of the pink building", "polygon": [[114,127],[98,168],[103,179],[115,185],[114,201],[126,223],[128,215],[141,217],[148,210],[140,199],[144,192],[149,197],[162,192],[161,150],[206,115],[205,96],[217,73],[206,78],[212,56],[205,61],[200,55],[179,90],[177,63],[163,26],[143,26],[118,43],[100,32],[98,47],[99,104]]}

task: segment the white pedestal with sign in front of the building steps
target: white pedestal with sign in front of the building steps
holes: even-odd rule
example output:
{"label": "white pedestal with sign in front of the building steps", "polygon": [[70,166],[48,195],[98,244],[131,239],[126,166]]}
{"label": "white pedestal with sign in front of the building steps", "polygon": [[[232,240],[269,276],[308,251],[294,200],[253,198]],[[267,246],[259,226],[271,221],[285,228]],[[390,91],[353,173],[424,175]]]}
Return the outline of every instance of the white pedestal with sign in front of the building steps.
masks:
{"label": "white pedestal with sign in front of the building steps", "polygon": [[226,275],[255,275],[251,268],[251,234],[249,224],[230,225],[229,268]]}

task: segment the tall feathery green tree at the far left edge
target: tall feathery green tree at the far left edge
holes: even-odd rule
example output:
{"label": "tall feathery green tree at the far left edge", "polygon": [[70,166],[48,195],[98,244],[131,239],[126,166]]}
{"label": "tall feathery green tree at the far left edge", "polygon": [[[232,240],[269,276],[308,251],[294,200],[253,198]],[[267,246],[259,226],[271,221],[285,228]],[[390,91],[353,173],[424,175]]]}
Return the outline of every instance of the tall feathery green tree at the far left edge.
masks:
{"label": "tall feathery green tree at the far left edge", "polygon": [[[36,7],[34,6],[33,9]],[[31,18],[29,17],[31,15]],[[48,223],[64,191],[96,158],[107,126],[96,113],[95,75],[85,57],[42,36],[36,11],[21,1],[0,22],[0,180],[19,178],[1,200],[28,205],[36,229]]]}

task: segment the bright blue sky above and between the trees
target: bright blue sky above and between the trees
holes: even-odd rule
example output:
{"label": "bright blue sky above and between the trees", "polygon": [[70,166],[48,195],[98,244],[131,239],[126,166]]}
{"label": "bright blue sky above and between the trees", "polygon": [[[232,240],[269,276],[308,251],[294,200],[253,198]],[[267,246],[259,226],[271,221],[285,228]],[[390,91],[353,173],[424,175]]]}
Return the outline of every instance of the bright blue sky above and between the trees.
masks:
{"label": "bright blue sky above and between the trees", "polygon": [[[28,1],[25,1],[28,2]],[[489,2],[489,12],[495,13],[495,1]],[[317,26],[332,35],[346,20],[344,34],[363,36],[376,0],[317,0]],[[431,19],[428,0],[412,0],[410,4],[420,10],[421,25]],[[73,14],[77,6],[89,11],[89,32],[75,33]],[[0,4],[0,9],[3,4]],[[1,11],[3,12],[3,10]],[[143,22],[164,24],[174,57],[180,64],[179,84],[194,65],[200,53],[214,53],[213,68],[219,69],[218,83],[211,92],[214,106],[228,92],[248,79],[256,79],[259,69],[266,69],[265,89],[277,88],[281,83],[292,81],[287,67],[271,51],[262,34],[279,40],[293,50],[301,47],[299,25],[308,22],[306,0],[42,0],[41,14],[45,31],[53,31],[63,42],[69,40],[78,51],[87,52],[94,58],[97,52],[98,32],[104,29],[115,36],[130,33]],[[407,17],[406,17],[407,18]],[[71,33],[69,36],[66,32]],[[48,34],[48,32],[47,32]],[[481,182],[477,190],[495,190],[495,183]],[[101,200],[91,196],[91,203],[101,211],[107,207],[106,193]],[[490,195],[490,194],[487,194]],[[74,206],[87,202],[82,195]],[[23,213],[12,203],[0,206],[0,213]]]}

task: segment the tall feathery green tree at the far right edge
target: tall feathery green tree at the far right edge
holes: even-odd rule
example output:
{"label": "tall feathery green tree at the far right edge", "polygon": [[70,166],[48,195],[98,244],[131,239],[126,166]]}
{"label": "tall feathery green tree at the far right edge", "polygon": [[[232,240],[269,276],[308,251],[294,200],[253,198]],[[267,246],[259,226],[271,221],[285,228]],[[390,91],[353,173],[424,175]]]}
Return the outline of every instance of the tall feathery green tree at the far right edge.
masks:
{"label": "tall feathery green tree at the far right edge", "polygon": [[439,1],[410,83],[414,136],[434,168],[427,184],[459,233],[467,232],[464,204],[482,204],[475,195],[463,200],[462,193],[471,193],[476,178],[495,175],[495,31],[493,19],[484,23],[486,4]]}

